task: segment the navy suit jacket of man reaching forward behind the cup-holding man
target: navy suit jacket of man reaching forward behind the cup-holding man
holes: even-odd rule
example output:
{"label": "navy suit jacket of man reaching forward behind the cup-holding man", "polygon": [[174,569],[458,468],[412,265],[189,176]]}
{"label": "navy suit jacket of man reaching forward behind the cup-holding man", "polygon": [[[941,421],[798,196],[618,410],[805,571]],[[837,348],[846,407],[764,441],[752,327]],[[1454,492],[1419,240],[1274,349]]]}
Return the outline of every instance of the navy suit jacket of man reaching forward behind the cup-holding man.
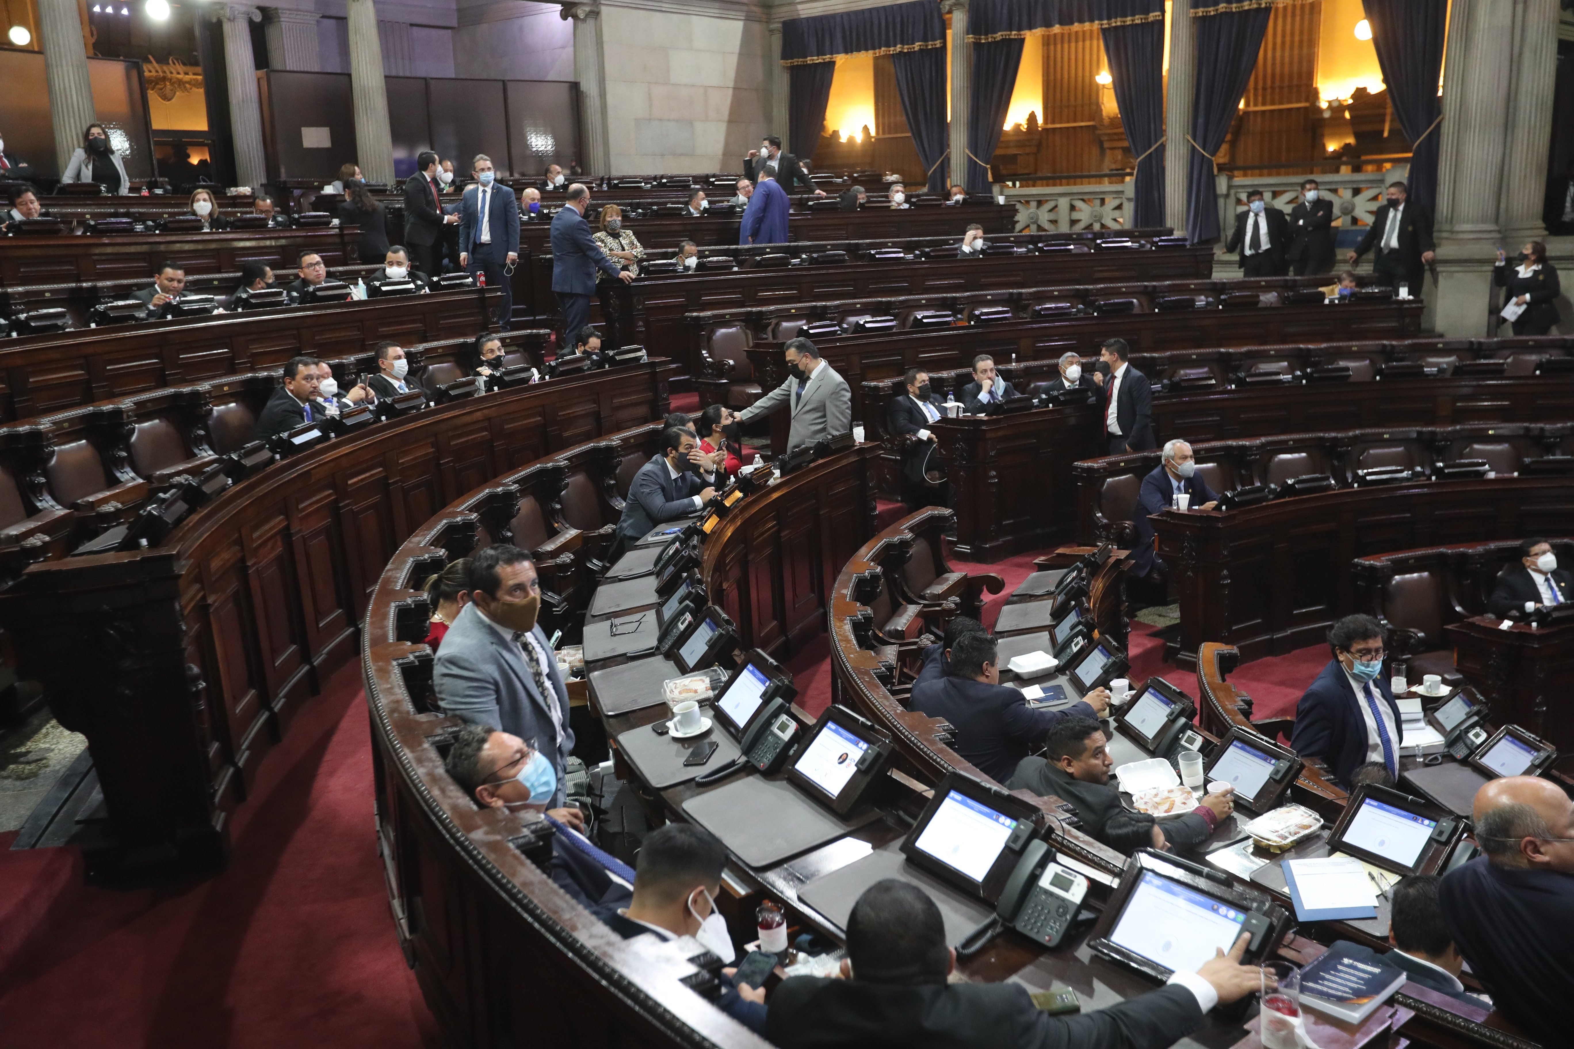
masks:
{"label": "navy suit jacket of man reaching forward behind the cup-holding man", "polygon": [[1028,750],[1044,744],[1055,722],[1067,714],[1097,717],[1086,703],[1064,711],[1034,709],[1017,689],[955,676],[913,686],[908,708],[951,722],[952,749],[999,783],[1011,778]]}

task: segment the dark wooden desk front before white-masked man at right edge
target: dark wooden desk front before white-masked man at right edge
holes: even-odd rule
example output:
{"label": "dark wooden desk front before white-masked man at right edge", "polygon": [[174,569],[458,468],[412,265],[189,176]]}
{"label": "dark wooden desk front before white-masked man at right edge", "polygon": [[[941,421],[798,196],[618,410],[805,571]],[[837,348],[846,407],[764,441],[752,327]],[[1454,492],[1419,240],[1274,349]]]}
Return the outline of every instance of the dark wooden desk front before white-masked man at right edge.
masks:
{"label": "dark wooden desk front before white-masked man at right edge", "polygon": [[1459,673],[1486,697],[1494,722],[1524,725],[1561,753],[1574,752],[1574,624],[1503,631],[1500,623],[1478,615],[1445,628]]}

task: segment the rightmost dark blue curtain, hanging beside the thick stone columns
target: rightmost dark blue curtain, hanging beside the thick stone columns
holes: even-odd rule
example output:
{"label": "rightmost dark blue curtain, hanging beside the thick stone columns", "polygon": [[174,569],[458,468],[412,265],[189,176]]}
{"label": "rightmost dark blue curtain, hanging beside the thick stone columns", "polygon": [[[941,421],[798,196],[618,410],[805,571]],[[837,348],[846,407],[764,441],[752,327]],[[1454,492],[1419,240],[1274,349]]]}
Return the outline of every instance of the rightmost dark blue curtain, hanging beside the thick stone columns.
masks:
{"label": "rightmost dark blue curtain, hanging beside the thick stone columns", "polygon": [[1393,115],[1410,140],[1409,200],[1434,214],[1437,145],[1443,137],[1443,129],[1434,126],[1442,113],[1437,74],[1443,64],[1448,0],[1363,0],[1363,6]]}

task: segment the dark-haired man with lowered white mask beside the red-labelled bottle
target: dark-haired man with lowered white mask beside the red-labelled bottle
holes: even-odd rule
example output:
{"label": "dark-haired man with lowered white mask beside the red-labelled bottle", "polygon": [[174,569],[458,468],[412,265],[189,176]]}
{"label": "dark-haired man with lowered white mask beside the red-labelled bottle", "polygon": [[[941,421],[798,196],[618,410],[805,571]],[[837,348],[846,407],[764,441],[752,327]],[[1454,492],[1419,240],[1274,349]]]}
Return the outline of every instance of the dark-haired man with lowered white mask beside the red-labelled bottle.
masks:
{"label": "dark-haired man with lowered white mask beside the red-labelled bottle", "polygon": [[[716,911],[727,846],[686,823],[652,830],[639,846],[634,898],[626,907],[597,907],[595,915],[623,939],[653,934],[661,940],[693,936],[724,963],[733,961],[727,923]],[[765,1033],[765,989],[721,977],[715,1005],[756,1035]]]}

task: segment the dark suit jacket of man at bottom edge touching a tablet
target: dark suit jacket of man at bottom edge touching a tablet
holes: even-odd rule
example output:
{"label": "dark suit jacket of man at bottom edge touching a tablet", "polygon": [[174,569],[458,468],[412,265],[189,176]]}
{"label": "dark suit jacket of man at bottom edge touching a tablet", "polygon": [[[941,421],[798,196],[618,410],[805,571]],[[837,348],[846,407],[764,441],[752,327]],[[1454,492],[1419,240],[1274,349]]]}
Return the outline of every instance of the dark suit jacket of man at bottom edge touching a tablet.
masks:
{"label": "dark suit jacket of man at bottom edge touching a tablet", "polygon": [[765,1036],[781,1049],[1158,1049],[1201,1025],[1182,986],[1050,1016],[1018,983],[795,977],[771,992]]}

